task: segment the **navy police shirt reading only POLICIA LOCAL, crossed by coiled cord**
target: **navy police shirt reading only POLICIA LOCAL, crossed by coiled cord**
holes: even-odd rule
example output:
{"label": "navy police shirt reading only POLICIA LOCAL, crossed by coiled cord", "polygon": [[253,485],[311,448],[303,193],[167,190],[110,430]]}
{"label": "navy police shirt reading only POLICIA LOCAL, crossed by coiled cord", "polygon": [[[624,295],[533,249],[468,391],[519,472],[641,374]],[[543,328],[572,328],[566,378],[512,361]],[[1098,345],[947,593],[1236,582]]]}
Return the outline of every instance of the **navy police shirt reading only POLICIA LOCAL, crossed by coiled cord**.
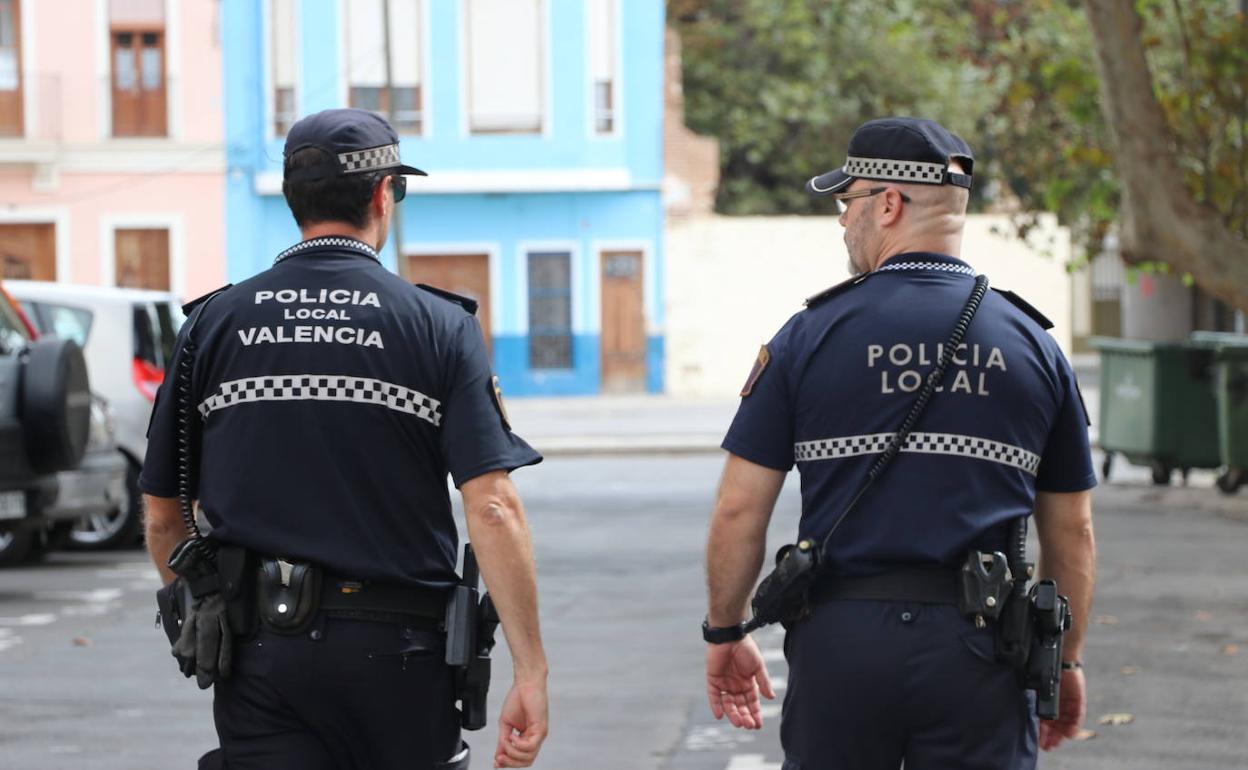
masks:
{"label": "navy police shirt reading only POLICIA LOCAL, crossed by coiled cord", "polygon": [[[789,319],[723,447],[801,474],[799,537],[822,539],[910,411],[975,286],[936,253],[887,260]],[[745,394],[748,393],[748,394]],[[952,567],[1005,548],[1036,492],[1096,485],[1070,363],[1027,312],[987,292],[905,448],[827,545],[832,574]]]}

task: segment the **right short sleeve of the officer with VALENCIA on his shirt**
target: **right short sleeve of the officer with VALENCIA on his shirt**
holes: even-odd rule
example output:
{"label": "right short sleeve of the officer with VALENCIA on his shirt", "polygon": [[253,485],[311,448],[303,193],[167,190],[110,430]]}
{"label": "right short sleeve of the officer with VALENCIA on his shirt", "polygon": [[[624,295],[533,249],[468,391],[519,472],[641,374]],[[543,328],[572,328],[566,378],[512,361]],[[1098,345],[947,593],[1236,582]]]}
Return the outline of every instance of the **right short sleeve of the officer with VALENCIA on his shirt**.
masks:
{"label": "right short sleeve of the officer with VALENCIA on his shirt", "polygon": [[510,472],[542,462],[533,447],[512,433],[498,387],[480,326],[464,316],[452,341],[442,404],[442,453],[456,487],[490,470]]}

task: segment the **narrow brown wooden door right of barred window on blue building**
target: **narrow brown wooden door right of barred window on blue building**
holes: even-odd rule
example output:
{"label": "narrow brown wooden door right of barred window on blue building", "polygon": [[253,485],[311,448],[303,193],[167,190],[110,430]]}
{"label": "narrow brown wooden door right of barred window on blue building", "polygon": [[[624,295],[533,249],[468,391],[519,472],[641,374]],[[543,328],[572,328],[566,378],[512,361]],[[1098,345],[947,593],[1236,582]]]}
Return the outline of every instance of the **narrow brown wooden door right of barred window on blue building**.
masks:
{"label": "narrow brown wooden door right of barred window on blue building", "polygon": [[645,292],[641,252],[604,251],[603,392],[645,391]]}

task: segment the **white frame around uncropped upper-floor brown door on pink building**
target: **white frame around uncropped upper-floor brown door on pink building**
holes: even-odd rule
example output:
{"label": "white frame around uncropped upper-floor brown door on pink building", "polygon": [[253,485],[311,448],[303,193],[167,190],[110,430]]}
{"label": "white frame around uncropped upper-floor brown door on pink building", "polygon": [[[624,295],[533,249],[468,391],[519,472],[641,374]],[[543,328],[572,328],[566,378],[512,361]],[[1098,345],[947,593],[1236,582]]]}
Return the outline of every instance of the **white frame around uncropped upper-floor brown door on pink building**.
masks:
{"label": "white frame around uncropped upper-floor brown door on pink building", "polygon": [[177,0],[165,0],[165,136],[114,136],[112,17],[109,15],[109,0],[95,0],[95,75],[99,84],[96,106],[100,115],[99,136],[102,141],[161,142],[182,139],[182,11],[178,6]]}

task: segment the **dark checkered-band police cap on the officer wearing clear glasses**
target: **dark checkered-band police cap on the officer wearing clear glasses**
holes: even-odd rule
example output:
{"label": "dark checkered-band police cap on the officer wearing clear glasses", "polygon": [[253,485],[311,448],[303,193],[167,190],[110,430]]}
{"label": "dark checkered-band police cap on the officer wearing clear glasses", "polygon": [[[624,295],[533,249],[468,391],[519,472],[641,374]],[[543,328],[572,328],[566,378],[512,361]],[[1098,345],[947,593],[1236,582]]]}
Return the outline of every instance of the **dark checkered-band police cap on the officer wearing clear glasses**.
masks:
{"label": "dark checkered-band police cap on the officer wearing clear glasses", "polygon": [[[952,158],[966,173],[950,171]],[[840,168],[806,182],[816,196],[841,192],[855,178],[914,185],[957,185],[971,188],[971,149],[932,120],[881,117],[862,124],[850,137],[849,157]]]}

